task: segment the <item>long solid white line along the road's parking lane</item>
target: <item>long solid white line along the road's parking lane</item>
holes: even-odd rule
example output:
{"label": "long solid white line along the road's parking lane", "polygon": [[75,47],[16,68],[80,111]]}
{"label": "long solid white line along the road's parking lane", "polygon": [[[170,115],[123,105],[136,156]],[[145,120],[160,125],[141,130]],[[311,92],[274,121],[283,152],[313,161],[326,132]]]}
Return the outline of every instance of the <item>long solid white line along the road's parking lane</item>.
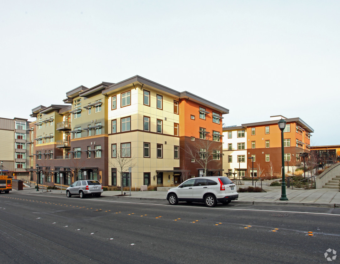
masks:
{"label": "long solid white line along the road's parking lane", "polygon": [[[62,196],[51,196],[51,195],[38,195],[38,194],[26,194],[22,193],[25,195],[34,195],[34,196],[45,196],[45,197],[56,197],[56,198],[65,198],[65,199],[70,199],[68,197],[62,197]],[[91,199],[95,201],[100,201],[100,202],[108,202],[108,203],[126,203],[126,204],[144,204],[144,205],[157,205],[157,206],[173,206],[169,204],[150,204],[150,203],[135,203],[135,202],[123,202],[123,201],[105,201],[105,200],[97,200],[97,199]],[[191,207],[191,208],[197,208],[197,206],[181,206],[181,205],[176,205],[177,207]],[[259,212],[285,212],[285,213],[305,213],[305,214],[321,214],[321,215],[334,215],[334,216],[340,216],[340,214],[333,214],[333,213],[313,213],[313,212],[297,212],[297,211],[275,211],[275,210],[259,210],[259,209],[234,209],[234,208],[209,208],[209,207],[200,207],[204,209],[217,209],[217,210],[234,210],[234,211],[259,211]]]}

